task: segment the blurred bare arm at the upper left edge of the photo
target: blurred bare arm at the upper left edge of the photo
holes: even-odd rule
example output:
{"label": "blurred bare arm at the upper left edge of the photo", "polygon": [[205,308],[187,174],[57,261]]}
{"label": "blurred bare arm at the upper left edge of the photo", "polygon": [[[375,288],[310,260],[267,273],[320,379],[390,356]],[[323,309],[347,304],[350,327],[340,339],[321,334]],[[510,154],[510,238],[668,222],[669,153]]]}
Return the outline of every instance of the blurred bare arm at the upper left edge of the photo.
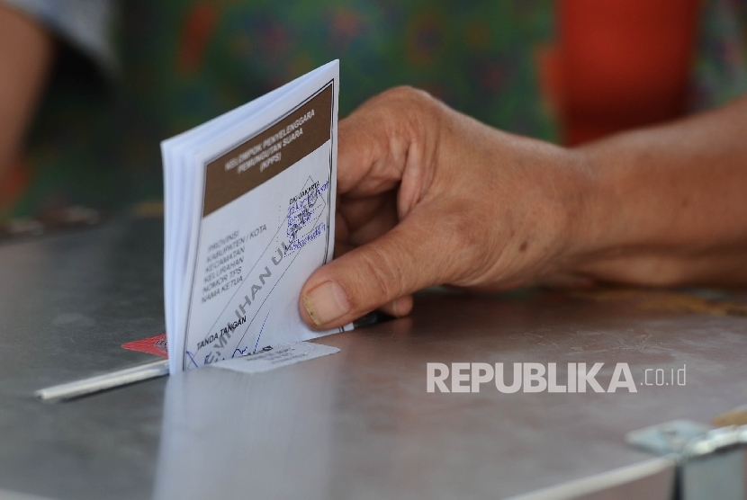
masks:
{"label": "blurred bare arm at the upper left edge of the photo", "polygon": [[53,56],[49,32],[0,4],[0,182],[20,153]]}

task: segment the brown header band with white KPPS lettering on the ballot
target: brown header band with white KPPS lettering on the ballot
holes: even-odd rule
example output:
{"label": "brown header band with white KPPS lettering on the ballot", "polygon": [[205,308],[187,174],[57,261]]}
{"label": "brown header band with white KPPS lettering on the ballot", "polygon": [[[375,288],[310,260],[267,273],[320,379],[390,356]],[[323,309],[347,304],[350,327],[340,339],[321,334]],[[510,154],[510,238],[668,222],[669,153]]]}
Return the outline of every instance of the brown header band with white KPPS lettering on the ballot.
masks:
{"label": "brown header band with white KPPS lettering on the ballot", "polygon": [[202,217],[236,200],[329,140],[332,84],[272,127],[211,161],[205,172]]}

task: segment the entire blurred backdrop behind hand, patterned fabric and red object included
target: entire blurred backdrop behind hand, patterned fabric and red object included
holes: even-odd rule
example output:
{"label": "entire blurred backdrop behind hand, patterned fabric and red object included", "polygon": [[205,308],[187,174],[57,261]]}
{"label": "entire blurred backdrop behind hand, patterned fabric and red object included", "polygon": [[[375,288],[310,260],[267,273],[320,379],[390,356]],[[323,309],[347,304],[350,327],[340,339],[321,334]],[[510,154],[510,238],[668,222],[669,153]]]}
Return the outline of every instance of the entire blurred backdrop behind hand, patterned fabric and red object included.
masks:
{"label": "entire blurred backdrop behind hand, patterned fabric and red object included", "polygon": [[[3,16],[54,45],[0,163],[6,237],[158,216],[162,139],[335,58],[341,118],[412,85],[569,146],[747,89],[747,0],[0,0]],[[24,47],[0,37],[8,50]],[[0,68],[0,91],[13,78]]]}

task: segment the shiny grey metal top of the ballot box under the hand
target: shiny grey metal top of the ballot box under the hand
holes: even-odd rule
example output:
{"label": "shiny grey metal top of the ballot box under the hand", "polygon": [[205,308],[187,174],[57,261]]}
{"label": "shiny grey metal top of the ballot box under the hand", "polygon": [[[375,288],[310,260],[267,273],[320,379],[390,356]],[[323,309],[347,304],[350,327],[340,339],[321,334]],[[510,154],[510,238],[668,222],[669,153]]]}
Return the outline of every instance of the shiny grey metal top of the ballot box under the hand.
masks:
{"label": "shiny grey metal top of the ballot box under the hand", "polygon": [[[667,498],[671,469],[627,447],[626,432],[676,418],[707,423],[747,402],[743,317],[556,292],[427,293],[411,317],[325,337],[341,352],[278,371],[206,368],[59,405],[36,401],[36,389],[154,359],[120,344],[163,331],[161,239],[157,221],[136,220],[0,246],[0,489],[57,498]],[[687,384],[427,393],[427,362],[556,362],[561,378],[567,362],[605,362],[599,379],[627,362],[636,383],[647,368],[686,364]]]}

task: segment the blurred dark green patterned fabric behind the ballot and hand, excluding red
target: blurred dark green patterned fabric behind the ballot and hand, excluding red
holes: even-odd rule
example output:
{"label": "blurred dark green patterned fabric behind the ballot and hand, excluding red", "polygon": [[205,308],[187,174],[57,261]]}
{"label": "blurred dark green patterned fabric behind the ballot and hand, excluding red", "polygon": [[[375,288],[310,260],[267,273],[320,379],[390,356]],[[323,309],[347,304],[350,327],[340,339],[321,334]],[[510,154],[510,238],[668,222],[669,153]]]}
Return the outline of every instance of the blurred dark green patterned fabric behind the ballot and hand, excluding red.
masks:
{"label": "blurred dark green patterned fabric behind the ballot and hand, excluding red", "polygon": [[[41,0],[39,0],[41,1]],[[51,0],[50,0],[51,1]],[[162,195],[161,139],[341,61],[340,112],[394,85],[428,90],[501,129],[554,140],[536,54],[554,38],[550,0],[128,0],[115,84],[69,65],[43,104],[0,219],[82,203],[117,210]],[[712,0],[694,109],[747,88],[747,0]]]}

